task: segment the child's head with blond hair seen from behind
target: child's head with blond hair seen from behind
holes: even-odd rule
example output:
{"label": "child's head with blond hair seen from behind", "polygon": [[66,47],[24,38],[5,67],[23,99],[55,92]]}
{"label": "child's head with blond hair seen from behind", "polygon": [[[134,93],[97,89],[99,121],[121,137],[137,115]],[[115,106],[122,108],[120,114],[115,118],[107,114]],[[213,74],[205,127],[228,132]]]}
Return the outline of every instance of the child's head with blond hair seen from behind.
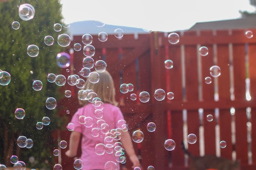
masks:
{"label": "child's head with blond hair seen from behind", "polygon": [[[117,102],[115,101],[115,85],[110,73],[104,71],[103,73],[99,73],[99,77],[99,82],[95,84],[87,79],[83,90],[93,90],[103,103],[110,103],[117,106]],[[88,104],[88,101],[79,99],[79,104],[84,106]]]}

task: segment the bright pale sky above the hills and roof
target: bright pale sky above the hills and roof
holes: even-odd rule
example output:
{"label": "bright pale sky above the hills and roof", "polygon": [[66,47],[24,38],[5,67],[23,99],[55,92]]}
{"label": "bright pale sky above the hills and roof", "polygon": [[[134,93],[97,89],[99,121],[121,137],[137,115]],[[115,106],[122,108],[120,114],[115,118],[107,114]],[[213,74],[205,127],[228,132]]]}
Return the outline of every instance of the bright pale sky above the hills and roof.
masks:
{"label": "bright pale sky above the hills and roof", "polygon": [[62,14],[72,22],[106,24],[153,31],[189,29],[196,22],[240,18],[239,10],[255,11],[249,0],[61,0]]}

